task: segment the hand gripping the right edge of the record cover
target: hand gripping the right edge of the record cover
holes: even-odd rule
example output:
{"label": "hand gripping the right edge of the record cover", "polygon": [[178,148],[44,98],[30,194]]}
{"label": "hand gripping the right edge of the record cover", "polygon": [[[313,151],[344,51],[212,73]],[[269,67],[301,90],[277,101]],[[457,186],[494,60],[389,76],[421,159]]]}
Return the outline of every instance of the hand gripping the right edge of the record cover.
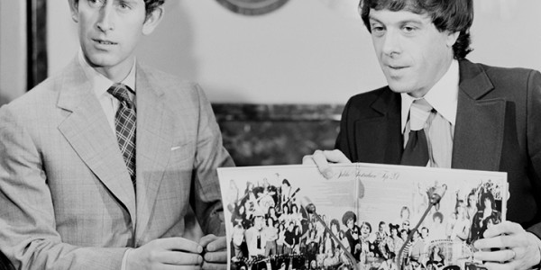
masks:
{"label": "hand gripping the right edge of the record cover", "polygon": [[485,261],[488,269],[528,269],[541,260],[541,240],[517,223],[501,222],[485,230],[483,237],[473,244],[481,249],[474,257]]}

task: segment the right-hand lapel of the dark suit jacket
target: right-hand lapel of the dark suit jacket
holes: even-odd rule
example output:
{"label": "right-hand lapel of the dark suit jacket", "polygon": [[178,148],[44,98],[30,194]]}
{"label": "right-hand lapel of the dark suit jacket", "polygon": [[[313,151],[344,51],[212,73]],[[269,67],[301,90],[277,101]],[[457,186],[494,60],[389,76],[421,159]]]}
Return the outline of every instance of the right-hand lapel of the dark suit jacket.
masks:
{"label": "right-hand lapel of the dark suit jacket", "polygon": [[494,86],[481,66],[461,61],[460,78],[452,167],[498,170],[506,102],[484,98]]}

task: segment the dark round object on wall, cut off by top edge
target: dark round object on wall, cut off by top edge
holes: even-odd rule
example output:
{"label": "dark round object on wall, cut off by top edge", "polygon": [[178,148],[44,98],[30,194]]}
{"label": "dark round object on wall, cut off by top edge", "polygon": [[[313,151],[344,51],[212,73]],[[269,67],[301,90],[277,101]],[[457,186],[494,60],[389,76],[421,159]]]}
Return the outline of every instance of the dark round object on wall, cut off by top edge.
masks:
{"label": "dark round object on wall, cut off by top edge", "polygon": [[268,14],[289,0],[216,0],[235,14],[261,15]]}

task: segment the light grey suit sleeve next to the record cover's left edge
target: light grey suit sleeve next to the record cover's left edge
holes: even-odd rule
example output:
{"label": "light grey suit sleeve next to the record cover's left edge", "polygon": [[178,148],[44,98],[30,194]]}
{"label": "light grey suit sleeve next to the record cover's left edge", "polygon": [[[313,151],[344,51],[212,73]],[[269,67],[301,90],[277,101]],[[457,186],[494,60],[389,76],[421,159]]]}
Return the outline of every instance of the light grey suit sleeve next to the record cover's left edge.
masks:
{"label": "light grey suit sleeve next to the record cover's left edge", "polygon": [[199,121],[190,202],[201,229],[206,234],[225,236],[224,209],[216,168],[234,166],[234,162],[222,145],[222,135],[210,103],[203,90],[198,85],[196,88]]}

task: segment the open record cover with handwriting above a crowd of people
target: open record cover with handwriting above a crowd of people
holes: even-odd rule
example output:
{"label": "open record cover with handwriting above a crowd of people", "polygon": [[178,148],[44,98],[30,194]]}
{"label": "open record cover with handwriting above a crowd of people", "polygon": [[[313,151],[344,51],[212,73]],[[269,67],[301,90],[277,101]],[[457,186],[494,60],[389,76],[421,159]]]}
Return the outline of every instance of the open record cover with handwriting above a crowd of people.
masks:
{"label": "open record cover with handwriting above a crowd of people", "polygon": [[219,168],[228,268],[484,269],[471,244],[505,220],[505,173],[332,166]]}

